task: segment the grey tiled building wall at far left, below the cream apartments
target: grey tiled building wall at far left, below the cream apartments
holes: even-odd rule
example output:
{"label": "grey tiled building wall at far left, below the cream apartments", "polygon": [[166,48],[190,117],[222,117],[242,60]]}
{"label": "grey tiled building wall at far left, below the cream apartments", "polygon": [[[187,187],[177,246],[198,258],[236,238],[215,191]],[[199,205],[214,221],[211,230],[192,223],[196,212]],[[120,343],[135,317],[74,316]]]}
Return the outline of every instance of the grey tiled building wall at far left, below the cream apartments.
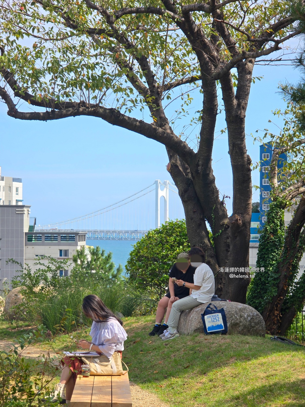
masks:
{"label": "grey tiled building wall at far left, below the cream apartments", "polygon": [[0,290],[4,278],[10,282],[19,273],[18,265],[6,264],[13,258],[24,265],[24,232],[28,231],[30,206],[1,205],[0,206]]}

